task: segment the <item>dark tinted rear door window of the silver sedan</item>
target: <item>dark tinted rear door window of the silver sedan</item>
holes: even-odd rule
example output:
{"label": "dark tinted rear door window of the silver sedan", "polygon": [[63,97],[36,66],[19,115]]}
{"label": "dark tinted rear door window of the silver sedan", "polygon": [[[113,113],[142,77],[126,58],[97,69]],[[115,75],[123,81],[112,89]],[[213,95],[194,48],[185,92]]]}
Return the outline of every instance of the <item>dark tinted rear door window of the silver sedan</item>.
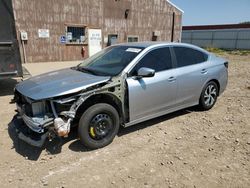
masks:
{"label": "dark tinted rear door window of the silver sedan", "polygon": [[202,63],[208,58],[207,54],[192,48],[174,47],[174,52],[178,67]]}

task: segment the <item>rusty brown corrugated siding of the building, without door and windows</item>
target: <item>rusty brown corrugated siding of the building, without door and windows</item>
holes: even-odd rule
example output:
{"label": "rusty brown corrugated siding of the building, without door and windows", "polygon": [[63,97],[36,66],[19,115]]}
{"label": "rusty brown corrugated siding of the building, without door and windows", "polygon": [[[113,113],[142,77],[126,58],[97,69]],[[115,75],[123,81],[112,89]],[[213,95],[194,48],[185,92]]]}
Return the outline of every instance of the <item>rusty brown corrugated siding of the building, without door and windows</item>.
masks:
{"label": "rusty brown corrugated siding of the building, without door and windows", "polygon": [[[160,32],[158,40],[170,41],[175,12],[174,40],[181,37],[182,12],[166,0],[13,0],[13,5],[17,32],[25,30],[29,37],[27,62],[82,59],[82,45],[60,44],[66,25],[100,28],[103,38],[117,34],[118,42],[126,42],[130,35],[150,41],[155,30]],[[38,29],[48,29],[50,37],[39,38]]]}

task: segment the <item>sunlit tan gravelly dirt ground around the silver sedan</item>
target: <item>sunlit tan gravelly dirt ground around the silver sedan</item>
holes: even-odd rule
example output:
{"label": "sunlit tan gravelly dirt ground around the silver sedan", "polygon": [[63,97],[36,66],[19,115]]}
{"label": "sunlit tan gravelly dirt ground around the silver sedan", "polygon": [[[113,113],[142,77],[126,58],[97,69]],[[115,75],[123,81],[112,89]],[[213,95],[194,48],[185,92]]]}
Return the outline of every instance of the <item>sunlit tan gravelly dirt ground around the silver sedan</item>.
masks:
{"label": "sunlit tan gravelly dirt ground around the silver sedan", "polygon": [[212,110],[121,129],[95,151],[76,131],[42,150],[18,141],[16,81],[0,81],[1,187],[250,187],[250,55],[221,55],[230,62],[229,85]]}

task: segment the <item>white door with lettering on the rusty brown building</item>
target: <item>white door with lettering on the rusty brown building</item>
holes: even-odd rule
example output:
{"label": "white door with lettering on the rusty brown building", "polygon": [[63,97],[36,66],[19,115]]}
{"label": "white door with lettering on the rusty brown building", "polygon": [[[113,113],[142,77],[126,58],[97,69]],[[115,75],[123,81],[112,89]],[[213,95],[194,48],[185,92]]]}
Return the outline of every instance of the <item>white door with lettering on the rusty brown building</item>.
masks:
{"label": "white door with lettering on the rusty brown building", "polygon": [[88,30],[89,57],[102,50],[102,30]]}

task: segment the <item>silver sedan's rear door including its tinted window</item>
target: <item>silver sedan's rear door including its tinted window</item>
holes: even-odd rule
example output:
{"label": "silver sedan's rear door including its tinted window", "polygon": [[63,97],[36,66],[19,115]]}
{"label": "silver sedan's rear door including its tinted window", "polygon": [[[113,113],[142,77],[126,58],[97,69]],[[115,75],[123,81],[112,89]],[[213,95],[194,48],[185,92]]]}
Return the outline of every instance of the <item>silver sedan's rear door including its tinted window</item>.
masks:
{"label": "silver sedan's rear door including its tinted window", "polygon": [[188,47],[173,47],[177,64],[177,106],[199,102],[202,87],[208,79],[208,55]]}

